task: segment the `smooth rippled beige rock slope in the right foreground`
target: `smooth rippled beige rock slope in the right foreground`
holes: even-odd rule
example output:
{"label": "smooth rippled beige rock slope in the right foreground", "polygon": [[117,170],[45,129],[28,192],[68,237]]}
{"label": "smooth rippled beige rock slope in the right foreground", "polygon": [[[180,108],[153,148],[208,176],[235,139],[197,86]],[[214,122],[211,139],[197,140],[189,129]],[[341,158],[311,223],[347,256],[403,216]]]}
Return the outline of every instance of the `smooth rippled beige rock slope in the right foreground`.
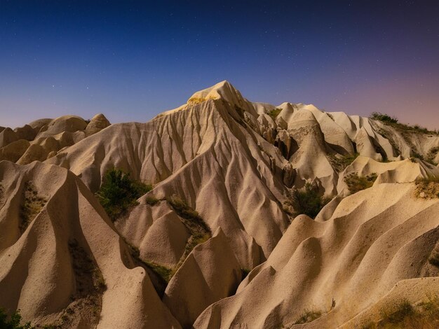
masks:
{"label": "smooth rippled beige rock slope in the right foreground", "polygon": [[276,328],[315,309],[324,316],[311,328],[337,328],[401,280],[438,275],[428,263],[438,214],[439,199],[416,199],[413,183],[383,183],[346,197],[325,222],[299,216],[238,293],[208,307],[194,327]]}

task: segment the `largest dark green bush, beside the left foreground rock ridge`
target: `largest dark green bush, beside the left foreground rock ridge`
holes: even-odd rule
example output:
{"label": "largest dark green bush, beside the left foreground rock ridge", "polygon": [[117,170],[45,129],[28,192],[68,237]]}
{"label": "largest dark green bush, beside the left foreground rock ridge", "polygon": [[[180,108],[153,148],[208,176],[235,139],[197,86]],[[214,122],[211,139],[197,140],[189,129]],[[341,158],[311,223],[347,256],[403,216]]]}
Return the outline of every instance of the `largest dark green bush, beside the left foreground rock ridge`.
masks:
{"label": "largest dark green bush, beside the left foreground rock ridge", "polygon": [[114,222],[126,214],[129,207],[135,206],[139,197],[150,190],[152,190],[151,185],[133,181],[129,173],[121,169],[110,169],[105,174],[96,196]]}

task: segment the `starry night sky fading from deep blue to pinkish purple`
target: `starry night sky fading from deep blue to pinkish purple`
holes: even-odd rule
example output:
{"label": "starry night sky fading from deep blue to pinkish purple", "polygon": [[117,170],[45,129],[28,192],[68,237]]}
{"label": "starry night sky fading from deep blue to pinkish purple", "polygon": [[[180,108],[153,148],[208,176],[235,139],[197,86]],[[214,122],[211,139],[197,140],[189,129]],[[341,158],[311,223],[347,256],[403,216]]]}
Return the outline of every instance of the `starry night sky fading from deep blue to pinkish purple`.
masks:
{"label": "starry night sky fading from deep blue to pinkish purple", "polygon": [[439,128],[438,1],[235,2],[0,0],[0,125],[145,122],[229,80]]}

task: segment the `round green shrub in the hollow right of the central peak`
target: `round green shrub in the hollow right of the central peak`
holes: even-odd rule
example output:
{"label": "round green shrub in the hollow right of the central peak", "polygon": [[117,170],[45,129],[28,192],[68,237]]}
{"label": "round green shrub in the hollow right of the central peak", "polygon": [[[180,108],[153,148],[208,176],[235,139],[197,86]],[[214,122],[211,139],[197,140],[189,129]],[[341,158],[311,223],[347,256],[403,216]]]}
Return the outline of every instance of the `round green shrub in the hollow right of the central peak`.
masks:
{"label": "round green shrub in the hollow right of the central peak", "polygon": [[291,206],[295,210],[295,216],[305,214],[311,218],[316,218],[327,202],[330,202],[330,200],[318,193],[317,186],[306,183],[302,190],[295,190],[292,193]]}

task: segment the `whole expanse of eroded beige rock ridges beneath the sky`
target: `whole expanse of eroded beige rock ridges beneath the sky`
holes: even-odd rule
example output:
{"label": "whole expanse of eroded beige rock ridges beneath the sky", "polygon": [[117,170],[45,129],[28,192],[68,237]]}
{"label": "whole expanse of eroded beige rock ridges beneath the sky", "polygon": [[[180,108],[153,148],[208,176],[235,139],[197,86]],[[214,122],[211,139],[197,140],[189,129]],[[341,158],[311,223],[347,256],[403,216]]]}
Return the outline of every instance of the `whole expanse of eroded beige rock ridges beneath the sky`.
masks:
{"label": "whole expanse of eroded beige rock ridges beneath the sky", "polygon": [[[0,129],[0,307],[62,328],[291,327],[310,309],[311,328],[361,328],[439,293],[439,199],[414,183],[439,177],[436,149],[227,81],[147,123]],[[112,223],[93,193],[114,167],[154,188]],[[292,216],[306,183],[332,198],[315,220]]]}

